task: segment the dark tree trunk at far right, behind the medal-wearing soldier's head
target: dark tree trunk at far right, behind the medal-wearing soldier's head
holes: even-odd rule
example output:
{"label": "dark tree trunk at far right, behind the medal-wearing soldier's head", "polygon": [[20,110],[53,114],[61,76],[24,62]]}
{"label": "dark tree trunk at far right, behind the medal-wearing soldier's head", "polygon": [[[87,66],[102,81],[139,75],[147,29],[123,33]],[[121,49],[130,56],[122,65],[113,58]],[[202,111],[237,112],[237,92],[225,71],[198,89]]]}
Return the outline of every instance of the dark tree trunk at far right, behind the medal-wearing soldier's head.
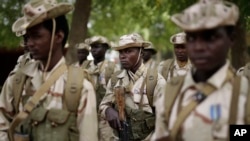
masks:
{"label": "dark tree trunk at far right, behind the medal-wearing soldier's head", "polygon": [[235,44],[231,49],[231,61],[234,68],[239,69],[249,59],[246,45],[246,24],[241,18],[236,25]]}

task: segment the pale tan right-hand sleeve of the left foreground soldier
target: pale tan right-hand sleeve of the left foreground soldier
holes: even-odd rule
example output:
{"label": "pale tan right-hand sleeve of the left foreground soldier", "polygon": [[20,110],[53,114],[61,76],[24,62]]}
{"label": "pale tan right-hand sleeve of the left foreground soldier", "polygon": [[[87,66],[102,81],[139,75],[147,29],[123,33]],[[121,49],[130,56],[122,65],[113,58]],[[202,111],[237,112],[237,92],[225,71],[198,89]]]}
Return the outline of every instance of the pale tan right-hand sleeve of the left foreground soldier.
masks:
{"label": "pale tan right-hand sleeve of the left foreground soldier", "polygon": [[86,79],[83,81],[77,123],[80,141],[98,141],[96,94],[93,85]]}

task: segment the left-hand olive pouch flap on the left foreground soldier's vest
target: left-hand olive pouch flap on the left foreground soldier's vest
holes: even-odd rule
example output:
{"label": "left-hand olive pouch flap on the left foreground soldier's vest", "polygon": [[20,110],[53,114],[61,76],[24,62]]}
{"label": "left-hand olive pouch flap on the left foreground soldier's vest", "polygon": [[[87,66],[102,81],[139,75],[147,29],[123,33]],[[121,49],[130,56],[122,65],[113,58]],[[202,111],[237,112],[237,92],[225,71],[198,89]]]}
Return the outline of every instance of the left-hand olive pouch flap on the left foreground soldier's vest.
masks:
{"label": "left-hand olive pouch flap on the left foreground soldier's vest", "polygon": [[30,113],[30,117],[31,117],[31,120],[33,120],[33,121],[41,122],[41,121],[43,121],[45,119],[46,114],[47,114],[47,110],[46,109],[44,109],[42,107],[38,107],[38,108],[35,108]]}

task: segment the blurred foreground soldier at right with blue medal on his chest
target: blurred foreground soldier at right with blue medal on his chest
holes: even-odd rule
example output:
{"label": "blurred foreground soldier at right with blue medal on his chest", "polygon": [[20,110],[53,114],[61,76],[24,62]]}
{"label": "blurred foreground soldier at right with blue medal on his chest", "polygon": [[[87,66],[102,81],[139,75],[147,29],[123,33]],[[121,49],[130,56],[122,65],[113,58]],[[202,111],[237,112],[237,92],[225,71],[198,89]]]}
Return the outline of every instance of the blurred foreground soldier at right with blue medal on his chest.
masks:
{"label": "blurred foreground soldier at right with blue medal on his chest", "polygon": [[249,124],[248,80],[227,60],[238,17],[235,4],[206,0],[172,16],[186,33],[193,69],[166,85],[152,141],[224,141],[229,124]]}

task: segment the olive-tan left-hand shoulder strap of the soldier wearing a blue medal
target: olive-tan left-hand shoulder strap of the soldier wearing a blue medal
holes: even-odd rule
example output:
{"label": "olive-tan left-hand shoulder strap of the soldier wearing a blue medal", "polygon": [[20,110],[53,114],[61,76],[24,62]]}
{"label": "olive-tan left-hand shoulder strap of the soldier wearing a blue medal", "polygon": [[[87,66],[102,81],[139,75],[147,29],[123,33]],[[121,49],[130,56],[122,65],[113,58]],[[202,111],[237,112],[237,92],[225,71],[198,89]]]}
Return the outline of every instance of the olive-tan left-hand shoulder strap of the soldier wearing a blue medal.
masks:
{"label": "olive-tan left-hand shoulder strap of the soldier wearing a blue medal", "polygon": [[[178,96],[178,93],[180,92],[181,86],[182,86],[182,84],[184,82],[184,78],[185,78],[184,76],[174,77],[166,85],[165,101],[168,101],[165,104],[165,109],[166,109],[165,118],[166,118],[166,121],[169,121],[170,114],[171,114],[171,109],[173,107],[175,99]],[[167,124],[168,124],[168,122],[167,122]]]}

